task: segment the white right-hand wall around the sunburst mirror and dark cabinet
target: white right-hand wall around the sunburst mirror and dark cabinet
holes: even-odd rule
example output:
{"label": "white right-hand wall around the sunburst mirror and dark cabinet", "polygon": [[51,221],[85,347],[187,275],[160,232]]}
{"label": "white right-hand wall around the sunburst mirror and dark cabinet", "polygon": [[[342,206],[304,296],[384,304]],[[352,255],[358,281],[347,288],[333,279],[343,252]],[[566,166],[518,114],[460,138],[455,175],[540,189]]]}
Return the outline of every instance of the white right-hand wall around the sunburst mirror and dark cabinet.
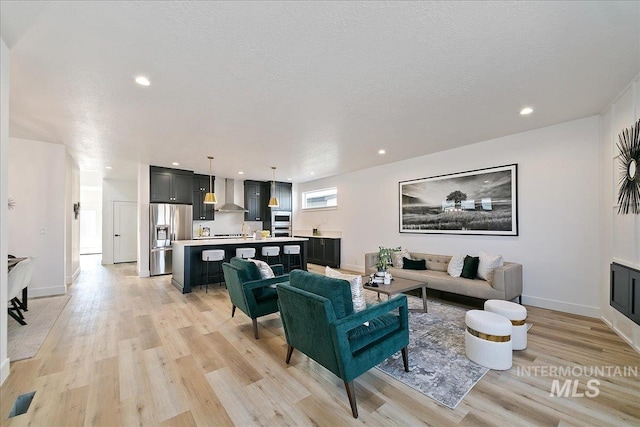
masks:
{"label": "white right-hand wall around the sunburst mirror and dark cabinet", "polygon": [[640,352],[640,326],[609,304],[609,266],[617,262],[640,269],[640,215],[618,215],[618,134],[640,118],[640,75],[601,115],[601,181],[603,229],[600,303],[602,318]]}

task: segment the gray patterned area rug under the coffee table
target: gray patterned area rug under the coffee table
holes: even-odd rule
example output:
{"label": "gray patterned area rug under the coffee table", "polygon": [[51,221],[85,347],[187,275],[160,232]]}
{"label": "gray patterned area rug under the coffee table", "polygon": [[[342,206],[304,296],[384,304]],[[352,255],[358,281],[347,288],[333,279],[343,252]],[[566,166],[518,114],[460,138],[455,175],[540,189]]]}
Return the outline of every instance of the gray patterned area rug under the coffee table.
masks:
{"label": "gray patterned area rug under the coffee table", "polygon": [[[365,294],[367,302],[376,301],[375,292],[365,291]],[[422,299],[407,298],[410,308],[422,309]],[[428,301],[427,306],[428,313],[409,312],[409,372],[404,371],[400,352],[377,368],[455,409],[489,369],[465,355],[467,310],[435,301]]]}

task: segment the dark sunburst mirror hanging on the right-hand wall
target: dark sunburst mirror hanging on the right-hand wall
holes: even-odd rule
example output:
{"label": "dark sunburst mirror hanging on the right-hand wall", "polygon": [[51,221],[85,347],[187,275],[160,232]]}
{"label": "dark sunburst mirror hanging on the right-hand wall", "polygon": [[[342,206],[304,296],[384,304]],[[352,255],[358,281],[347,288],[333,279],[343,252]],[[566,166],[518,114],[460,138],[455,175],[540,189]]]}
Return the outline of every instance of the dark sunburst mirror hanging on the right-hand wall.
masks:
{"label": "dark sunburst mirror hanging on the right-hand wall", "polygon": [[618,135],[620,180],[618,214],[640,214],[640,120]]}

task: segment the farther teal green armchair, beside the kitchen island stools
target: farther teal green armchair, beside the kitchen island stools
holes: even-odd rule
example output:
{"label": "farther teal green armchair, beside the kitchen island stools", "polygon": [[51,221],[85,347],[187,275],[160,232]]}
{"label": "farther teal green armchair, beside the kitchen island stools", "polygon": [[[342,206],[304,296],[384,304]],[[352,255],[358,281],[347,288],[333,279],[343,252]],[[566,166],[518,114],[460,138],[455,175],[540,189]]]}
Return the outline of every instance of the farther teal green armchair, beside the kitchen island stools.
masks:
{"label": "farther teal green armchair, beside the kitchen island stools", "polygon": [[271,266],[276,277],[262,279],[260,270],[251,261],[233,257],[231,262],[222,264],[224,281],[231,299],[231,317],[239,308],[253,322],[253,334],[258,339],[258,317],[278,312],[278,294],[271,285],[289,280],[284,274],[284,266]]}

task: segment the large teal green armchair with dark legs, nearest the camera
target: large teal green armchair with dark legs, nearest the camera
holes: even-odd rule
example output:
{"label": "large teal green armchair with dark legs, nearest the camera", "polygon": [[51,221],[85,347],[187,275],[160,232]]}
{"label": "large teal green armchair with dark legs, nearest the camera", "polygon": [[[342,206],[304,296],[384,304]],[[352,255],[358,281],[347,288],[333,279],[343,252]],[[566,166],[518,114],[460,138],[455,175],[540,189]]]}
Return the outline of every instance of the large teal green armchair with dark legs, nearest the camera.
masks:
{"label": "large teal green armchair with dark legs, nearest the camera", "polygon": [[358,418],[356,377],[399,350],[404,370],[409,371],[406,296],[354,313],[349,282],[303,270],[289,273],[289,283],[279,284],[277,292],[287,364],[297,349],[340,377],[354,418]]}

